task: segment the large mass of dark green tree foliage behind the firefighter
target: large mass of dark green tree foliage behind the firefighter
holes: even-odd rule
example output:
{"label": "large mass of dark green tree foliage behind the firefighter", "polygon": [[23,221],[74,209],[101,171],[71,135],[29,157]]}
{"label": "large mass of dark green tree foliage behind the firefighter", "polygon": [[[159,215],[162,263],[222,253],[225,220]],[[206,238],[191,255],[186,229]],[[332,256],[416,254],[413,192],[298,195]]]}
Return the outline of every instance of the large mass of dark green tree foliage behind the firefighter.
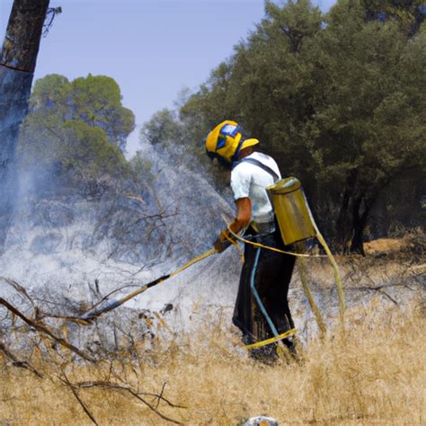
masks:
{"label": "large mass of dark green tree foliage behind the firefighter", "polygon": [[[182,105],[183,143],[202,155],[200,142],[217,122],[241,122],[283,174],[302,179],[334,243],[362,252],[386,187],[424,189],[420,6],[340,0],[324,14],[308,0],[267,1],[256,30]],[[410,202],[418,211],[419,200]]]}

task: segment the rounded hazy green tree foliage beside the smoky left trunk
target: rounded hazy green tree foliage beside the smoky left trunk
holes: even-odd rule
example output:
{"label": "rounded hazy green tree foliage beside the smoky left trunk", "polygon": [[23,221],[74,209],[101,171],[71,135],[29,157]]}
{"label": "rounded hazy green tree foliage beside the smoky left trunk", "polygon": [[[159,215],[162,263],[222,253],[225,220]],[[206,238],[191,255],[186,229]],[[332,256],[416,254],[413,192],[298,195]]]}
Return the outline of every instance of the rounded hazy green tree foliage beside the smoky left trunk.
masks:
{"label": "rounded hazy green tree foliage beside the smoky left trunk", "polygon": [[120,148],[134,127],[133,113],[120,105],[120,88],[110,77],[92,76],[69,82],[63,75],[38,80],[31,111],[22,124],[18,159],[36,184],[99,185],[129,177]]}

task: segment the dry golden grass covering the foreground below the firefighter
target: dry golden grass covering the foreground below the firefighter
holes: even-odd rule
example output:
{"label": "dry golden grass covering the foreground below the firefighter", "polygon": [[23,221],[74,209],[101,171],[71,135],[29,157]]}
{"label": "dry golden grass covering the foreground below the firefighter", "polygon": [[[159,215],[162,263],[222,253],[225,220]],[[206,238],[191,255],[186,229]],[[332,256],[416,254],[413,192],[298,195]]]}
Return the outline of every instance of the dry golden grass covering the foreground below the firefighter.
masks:
{"label": "dry golden grass covering the foreground below the firefighter", "polygon": [[[423,306],[424,307],[424,306]],[[348,314],[351,330],[312,340],[302,359],[275,366],[250,359],[238,338],[222,324],[205,331],[141,342],[132,353],[95,367],[35,353],[31,364],[43,375],[0,359],[0,424],[91,424],[71,383],[108,380],[160,393],[143,395],[148,404],[185,424],[235,425],[267,414],[280,424],[424,424],[424,308],[377,306]],[[348,327],[349,328],[349,327]],[[121,359],[121,360],[120,360]],[[130,361],[132,359],[132,361]],[[75,389],[99,424],[167,424],[129,391]]]}

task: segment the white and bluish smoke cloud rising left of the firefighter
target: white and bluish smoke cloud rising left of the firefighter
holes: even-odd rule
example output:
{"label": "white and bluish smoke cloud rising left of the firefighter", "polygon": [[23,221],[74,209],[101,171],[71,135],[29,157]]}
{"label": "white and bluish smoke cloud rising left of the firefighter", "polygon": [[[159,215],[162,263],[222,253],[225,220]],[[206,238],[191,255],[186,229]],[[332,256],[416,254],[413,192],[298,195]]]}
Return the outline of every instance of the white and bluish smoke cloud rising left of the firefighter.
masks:
{"label": "white and bluish smoke cloud rising left of the firefighter", "polygon": [[[30,142],[40,146],[46,143],[44,137],[44,132],[31,132]],[[45,166],[40,152],[29,149],[22,154],[23,147],[18,150],[15,212],[0,269],[4,277],[22,284],[47,306],[62,306],[62,312],[70,304],[90,306],[111,292],[112,297],[120,297],[176,270],[211,248],[225,226],[222,214],[233,214],[202,175],[153,146],[144,146],[130,162],[138,164],[130,178],[96,180],[89,188],[97,185],[96,191],[84,187],[88,181],[74,185],[71,172],[59,173],[58,164],[50,161],[58,157],[56,152],[49,151]],[[227,270],[234,271],[234,287],[223,278],[227,290],[217,293],[217,274],[211,280],[206,276],[209,289],[204,289],[203,297],[220,294],[216,300],[223,303],[227,295],[229,305],[234,298],[229,291],[236,291],[240,266],[235,253],[226,254],[226,259]],[[200,275],[204,266],[194,267],[195,273]],[[177,293],[166,290],[155,300],[144,295],[129,307],[153,304],[153,309],[159,309],[164,303],[177,303],[184,287],[177,282],[181,284],[171,286]],[[181,302],[187,310],[200,296],[200,288],[193,289],[193,297],[187,294],[188,301]],[[13,297],[10,288],[1,288],[0,294]]]}

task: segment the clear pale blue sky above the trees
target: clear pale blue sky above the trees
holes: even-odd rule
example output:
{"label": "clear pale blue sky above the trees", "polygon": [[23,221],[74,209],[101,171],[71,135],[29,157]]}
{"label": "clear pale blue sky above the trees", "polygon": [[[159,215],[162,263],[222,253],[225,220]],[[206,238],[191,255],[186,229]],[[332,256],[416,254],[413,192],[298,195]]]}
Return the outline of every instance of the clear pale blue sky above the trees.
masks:
{"label": "clear pale blue sky above the trees", "polygon": [[[314,0],[327,11],[335,0]],[[0,40],[13,0],[0,0]],[[185,88],[196,91],[212,68],[264,15],[263,0],[50,0],[62,7],[41,40],[34,81],[48,74],[109,75],[136,115],[128,152],[146,120]]]}

